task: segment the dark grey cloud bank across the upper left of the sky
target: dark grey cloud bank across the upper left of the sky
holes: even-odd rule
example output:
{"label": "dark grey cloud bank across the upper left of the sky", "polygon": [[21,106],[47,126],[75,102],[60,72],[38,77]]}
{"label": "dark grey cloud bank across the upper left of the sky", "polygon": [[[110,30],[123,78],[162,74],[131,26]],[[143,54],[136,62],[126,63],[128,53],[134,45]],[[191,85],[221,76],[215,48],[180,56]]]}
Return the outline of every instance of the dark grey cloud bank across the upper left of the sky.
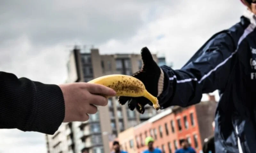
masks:
{"label": "dark grey cloud bank across the upper left of the sky", "polygon": [[[165,2],[166,3],[166,2]],[[156,6],[154,6],[156,4]],[[159,4],[158,4],[159,5]],[[33,44],[53,45],[70,40],[99,44],[124,40],[145,25],[141,15],[156,1],[4,1],[0,6],[2,40],[28,36]],[[3,41],[1,41],[3,42]]]}

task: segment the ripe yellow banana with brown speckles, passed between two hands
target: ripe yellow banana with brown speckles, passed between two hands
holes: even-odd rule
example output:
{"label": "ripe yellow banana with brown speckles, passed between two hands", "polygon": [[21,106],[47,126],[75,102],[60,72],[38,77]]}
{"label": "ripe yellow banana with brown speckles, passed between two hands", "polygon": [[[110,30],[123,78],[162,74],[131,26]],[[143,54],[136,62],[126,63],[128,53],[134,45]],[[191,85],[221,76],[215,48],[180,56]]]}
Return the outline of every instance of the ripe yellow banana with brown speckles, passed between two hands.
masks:
{"label": "ripe yellow banana with brown speckles, passed between two hands", "polygon": [[101,84],[116,91],[116,96],[145,97],[153,103],[153,107],[160,108],[156,97],[151,95],[144,84],[137,78],[121,74],[98,77],[88,83]]}

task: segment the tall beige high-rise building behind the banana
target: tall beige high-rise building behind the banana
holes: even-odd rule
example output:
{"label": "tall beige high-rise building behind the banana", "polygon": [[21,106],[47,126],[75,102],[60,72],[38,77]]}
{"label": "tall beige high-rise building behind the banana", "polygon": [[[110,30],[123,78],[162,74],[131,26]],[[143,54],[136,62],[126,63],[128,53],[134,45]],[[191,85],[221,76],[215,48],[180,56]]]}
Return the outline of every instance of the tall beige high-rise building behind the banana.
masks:
{"label": "tall beige high-rise building behind the banana", "polygon": [[[153,58],[159,65],[165,64],[164,57],[157,58],[153,55]],[[67,82],[88,82],[93,78],[109,74],[132,75],[141,66],[140,54],[100,55],[99,49],[92,48],[89,52],[84,52],[75,47],[67,64]],[[88,121],[68,123],[61,126],[53,136],[47,135],[48,152],[81,153],[82,150],[86,150],[88,153],[109,153],[109,141],[112,141],[120,132],[158,113],[151,106],[146,107],[144,114],[130,111],[127,105],[119,105],[117,98],[109,98],[108,106],[98,108],[98,113],[90,115]],[[54,149],[58,146],[52,142],[56,142],[54,136],[58,133],[66,135],[66,140],[61,140],[67,145],[67,149],[65,147],[63,150]]]}

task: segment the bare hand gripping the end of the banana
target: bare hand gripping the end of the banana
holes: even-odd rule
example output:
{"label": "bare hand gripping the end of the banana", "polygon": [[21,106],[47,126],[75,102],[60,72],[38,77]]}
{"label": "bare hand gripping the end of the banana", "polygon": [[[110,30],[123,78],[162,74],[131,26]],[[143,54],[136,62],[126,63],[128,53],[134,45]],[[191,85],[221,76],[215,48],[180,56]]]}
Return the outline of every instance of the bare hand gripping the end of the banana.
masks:
{"label": "bare hand gripping the end of the banana", "polygon": [[88,114],[97,113],[98,108],[96,106],[108,105],[108,99],[100,95],[110,97],[116,95],[113,89],[99,84],[71,83],[59,86],[65,101],[63,122],[88,120]]}

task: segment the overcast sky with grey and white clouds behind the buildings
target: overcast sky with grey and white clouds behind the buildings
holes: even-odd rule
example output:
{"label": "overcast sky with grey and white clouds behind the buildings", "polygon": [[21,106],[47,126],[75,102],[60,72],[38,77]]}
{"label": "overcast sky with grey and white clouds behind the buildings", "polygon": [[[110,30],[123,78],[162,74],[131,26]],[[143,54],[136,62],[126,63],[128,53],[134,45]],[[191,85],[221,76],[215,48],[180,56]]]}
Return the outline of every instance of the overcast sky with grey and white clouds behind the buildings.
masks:
{"label": "overcast sky with grey and white clouds behind the buildings", "polygon": [[[101,54],[147,46],[179,69],[244,10],[240,0],[1,0],[0,70],[60,84],[75,43]],[[0,130],[0,153],[13,152],[45,153],[44,135]]]}

